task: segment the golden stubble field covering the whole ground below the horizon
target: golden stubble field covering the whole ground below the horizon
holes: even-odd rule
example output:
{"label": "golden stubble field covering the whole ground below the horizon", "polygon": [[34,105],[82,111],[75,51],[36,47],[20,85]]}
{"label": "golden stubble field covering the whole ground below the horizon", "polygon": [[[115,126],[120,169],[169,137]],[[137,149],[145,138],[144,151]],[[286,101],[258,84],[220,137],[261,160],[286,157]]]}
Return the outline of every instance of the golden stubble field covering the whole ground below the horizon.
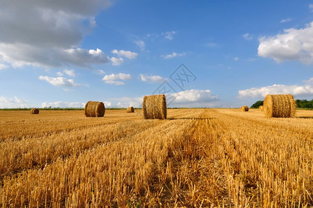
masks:
{"label": "golden stubble field covering the whole ground below the horizon", "polygon": [[313,111],[0,111],[2,207],[312,207]]}

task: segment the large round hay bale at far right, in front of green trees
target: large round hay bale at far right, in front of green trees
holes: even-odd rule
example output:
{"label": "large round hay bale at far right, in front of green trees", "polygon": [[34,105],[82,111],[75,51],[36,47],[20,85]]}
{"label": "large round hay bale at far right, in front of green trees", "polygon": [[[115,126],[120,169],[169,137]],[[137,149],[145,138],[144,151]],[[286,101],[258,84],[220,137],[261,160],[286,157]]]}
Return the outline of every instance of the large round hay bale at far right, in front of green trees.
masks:
{"label": "large round hay bale at far right, in front of green trees", "polygon": [[265,117],[294,117],[296,102],[291,94],[267,94],[263,103]]}

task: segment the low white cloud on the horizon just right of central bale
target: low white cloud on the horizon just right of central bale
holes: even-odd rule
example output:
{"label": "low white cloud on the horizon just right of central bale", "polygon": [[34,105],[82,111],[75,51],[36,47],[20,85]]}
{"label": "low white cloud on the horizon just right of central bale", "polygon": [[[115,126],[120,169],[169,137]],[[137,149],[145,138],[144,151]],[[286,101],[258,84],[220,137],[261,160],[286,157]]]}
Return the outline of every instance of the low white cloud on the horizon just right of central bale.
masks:
{"label": "low white cloud on the horizon just right of central bale", "polygon": [[221,100],[219,96],[213,95],[210,89],[189,89],[170,96],[175,97],[172,105],[177,107],[209,107],[213,101]]}

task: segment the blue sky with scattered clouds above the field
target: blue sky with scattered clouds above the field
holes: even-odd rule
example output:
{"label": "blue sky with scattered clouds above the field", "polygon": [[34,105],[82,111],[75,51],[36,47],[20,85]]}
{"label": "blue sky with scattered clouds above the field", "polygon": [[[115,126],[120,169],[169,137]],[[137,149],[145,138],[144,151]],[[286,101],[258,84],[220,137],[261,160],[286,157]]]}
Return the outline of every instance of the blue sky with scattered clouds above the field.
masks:
{"label": "blue sky with scattered clouds above the field", "polygon": [[313,99],[313,1],[0,0],[0,108]]}

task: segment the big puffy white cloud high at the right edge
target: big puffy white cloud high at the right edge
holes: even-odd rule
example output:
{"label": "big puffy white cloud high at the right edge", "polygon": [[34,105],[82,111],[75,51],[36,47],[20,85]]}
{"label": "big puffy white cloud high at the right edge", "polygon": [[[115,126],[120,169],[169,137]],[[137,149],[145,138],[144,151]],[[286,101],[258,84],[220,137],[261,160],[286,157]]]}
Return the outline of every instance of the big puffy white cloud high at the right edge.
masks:
{"label": "big puffy white cloud high at the right edge", "polygon": [[305,28],[289,28],[274,37],[261,37],[258,55],[273,58],[276,62],[300,60],[313,62],[313,22]]}

